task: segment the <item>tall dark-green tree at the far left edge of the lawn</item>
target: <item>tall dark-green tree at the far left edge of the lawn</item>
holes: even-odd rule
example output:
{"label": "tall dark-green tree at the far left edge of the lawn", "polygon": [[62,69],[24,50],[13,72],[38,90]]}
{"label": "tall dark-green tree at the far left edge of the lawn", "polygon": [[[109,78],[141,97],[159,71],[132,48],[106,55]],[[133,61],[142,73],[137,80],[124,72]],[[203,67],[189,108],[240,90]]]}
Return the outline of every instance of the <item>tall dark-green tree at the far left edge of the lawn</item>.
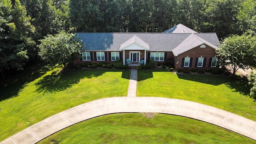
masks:
{"label": "tall dark-green tree at the far left edge of the lawn", "polygon": [[0,71],[21,70],[28,59],[27,52],[34,47],[34,26],[19,0],[2,0],[0,3]]}

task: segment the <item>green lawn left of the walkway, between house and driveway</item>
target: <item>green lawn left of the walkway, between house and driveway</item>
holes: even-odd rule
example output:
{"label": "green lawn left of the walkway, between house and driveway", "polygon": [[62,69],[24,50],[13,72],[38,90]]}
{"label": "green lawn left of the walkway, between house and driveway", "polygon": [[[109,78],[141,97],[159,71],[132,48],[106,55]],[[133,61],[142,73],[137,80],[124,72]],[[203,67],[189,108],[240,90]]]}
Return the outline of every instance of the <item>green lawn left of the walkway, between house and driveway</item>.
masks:
{"label": "green lawn left of the walkway, between house and driveway", "polygon": [[39,64],[0,84],[0,141],[58,112],[101,98],[127,96],[130,70],[59,72]]}

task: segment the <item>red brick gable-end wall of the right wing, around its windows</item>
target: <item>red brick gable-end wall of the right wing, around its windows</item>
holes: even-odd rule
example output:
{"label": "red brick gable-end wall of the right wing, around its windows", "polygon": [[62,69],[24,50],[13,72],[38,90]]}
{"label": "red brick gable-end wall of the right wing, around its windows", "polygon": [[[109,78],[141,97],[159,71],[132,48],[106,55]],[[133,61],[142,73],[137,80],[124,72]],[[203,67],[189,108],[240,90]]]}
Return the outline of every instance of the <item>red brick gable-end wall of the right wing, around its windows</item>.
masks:
{"label": "red brick gable-end wall of the right wing, around its windows", "polygon": [[[193,48],[191,50],[188,50],[182,54],[179,54],[178,56],[176,56],[176,61],[175,61],[175,69],[177,70],[178,68],[184,68],[184,67],[181,67],[182,66],[182,58],[185,58],[185,57],[190,57],[190,58],[193,58],[192,60],[192,67],[189,67],[190,69],[191,68],[196,68],[195,67],[195,63],[196,63],[196,58],[200,58],[202,56],[202,58],[206,58],[206,65],[204,68],[209,68],[208,65],[209,65],[209,60],[210,58],[214,58],[214,56],[216,55],[215,53],[215,49],[206,45],[206,48],[200,48],[200,46],[197,46],[196,48]],[[176,62],[178,62],[178,64],[176,64]]]}

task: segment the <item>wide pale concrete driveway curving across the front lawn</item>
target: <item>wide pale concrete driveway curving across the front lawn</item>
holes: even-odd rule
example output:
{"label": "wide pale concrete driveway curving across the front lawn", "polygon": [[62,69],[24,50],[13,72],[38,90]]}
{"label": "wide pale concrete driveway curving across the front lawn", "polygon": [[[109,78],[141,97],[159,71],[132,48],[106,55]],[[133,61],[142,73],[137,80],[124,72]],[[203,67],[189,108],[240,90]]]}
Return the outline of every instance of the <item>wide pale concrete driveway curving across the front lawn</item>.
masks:
{"label": "wide pale concrete driveway curving across the front lawn", "polygon": [[104,114],[122,112],[158,112],[185,116],[256,140],[256,122],[212,106],[172,98],[113,97],[94,100],[60,112],[22,130],[0,144],[34,144],[78,122]]}

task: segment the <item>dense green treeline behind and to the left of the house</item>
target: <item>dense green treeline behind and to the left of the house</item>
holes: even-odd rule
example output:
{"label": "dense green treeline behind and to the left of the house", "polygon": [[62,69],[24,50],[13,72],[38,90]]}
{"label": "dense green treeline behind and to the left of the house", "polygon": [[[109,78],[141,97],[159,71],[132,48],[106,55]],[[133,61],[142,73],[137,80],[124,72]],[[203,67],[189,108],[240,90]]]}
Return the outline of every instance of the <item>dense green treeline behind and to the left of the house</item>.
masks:
{"label": "dense green treeline behind and to the left of the house", "polygon": [[219,38],[256,31],[255,0],[0,0],[0,71],[38,58],[40,39],[66,32],[162,32],[179,23]]}

